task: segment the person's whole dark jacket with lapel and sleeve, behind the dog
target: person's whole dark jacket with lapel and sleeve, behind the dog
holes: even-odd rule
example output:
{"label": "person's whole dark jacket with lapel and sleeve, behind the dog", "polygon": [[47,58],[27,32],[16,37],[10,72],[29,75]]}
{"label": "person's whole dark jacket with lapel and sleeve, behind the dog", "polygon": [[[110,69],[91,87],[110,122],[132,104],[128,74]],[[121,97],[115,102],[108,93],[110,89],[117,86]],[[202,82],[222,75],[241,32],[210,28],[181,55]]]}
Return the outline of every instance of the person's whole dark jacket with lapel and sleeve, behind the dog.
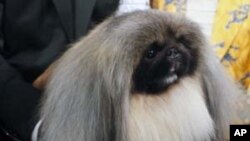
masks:
{"label": "person's whole dark jacket with lapel and sleeve, behind the dog", "polygon": [[32,82],[69,43],[118,4],[118,0],[0,0],[0,130],[30,140],[41,97]]}

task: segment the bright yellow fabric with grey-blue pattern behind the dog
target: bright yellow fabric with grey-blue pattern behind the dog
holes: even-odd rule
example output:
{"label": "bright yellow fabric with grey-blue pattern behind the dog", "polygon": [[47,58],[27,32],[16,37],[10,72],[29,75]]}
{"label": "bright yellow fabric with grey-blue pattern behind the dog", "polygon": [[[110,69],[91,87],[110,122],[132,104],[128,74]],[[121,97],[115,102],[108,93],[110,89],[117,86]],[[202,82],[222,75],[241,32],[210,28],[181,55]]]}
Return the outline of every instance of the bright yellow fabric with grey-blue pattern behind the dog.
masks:
{"label": "bright yellow fabric with grey-blue pattern behind the dog", "polygon": [[[186,0],[153,0],[153,8],[169,12],[183,14],[185,7]],[[211,41],[222,64],[250,93],[250,0],[218,1]]]}

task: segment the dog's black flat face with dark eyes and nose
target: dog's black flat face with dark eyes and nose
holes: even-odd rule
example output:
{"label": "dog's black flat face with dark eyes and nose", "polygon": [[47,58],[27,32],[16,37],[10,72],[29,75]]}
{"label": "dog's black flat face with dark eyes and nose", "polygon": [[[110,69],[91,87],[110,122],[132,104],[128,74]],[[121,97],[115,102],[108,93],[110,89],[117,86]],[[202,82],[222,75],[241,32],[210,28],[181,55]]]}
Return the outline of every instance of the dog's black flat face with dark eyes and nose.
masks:
{"label": "dog's black flat face with dark eyes and nose", "polygon": [[133,91],[159,94],[197,68],[198,50],[185,36],[147,47],[133,74]]}

